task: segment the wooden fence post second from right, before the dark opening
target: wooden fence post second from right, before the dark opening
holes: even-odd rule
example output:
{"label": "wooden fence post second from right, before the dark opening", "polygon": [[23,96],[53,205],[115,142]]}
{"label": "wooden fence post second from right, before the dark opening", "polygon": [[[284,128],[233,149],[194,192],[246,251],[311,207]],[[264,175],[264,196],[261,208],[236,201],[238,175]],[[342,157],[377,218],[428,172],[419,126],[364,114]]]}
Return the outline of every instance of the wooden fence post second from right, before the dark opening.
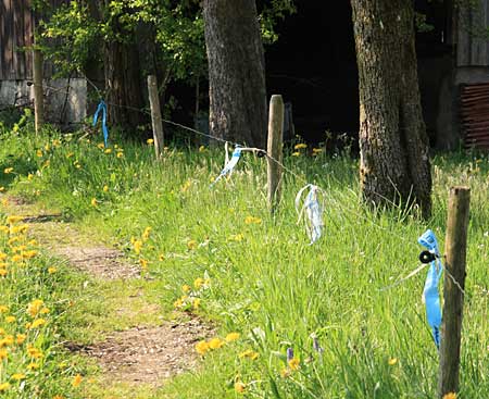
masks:
{"label": "wooden fence post second from right, before the dark opening", "polygon": [[[276,211],[280,202],[281,165],[283,162],[283,136],[284,136],[284,100],[280,95],[272,96],[268,113],[268,207]],[[275,161],[274,161],[275,160]]]}

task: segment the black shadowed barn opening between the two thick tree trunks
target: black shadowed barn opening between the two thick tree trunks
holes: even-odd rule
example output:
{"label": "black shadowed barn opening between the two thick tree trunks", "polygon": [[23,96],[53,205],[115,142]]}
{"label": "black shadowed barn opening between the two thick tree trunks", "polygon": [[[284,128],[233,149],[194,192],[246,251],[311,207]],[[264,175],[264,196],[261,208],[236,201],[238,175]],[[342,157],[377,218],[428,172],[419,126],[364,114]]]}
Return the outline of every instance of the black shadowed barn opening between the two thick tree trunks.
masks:
{"label": "black shadowed barn opening between the two thick tree trunks", "polygon": [[269,95],[291,102],[296,134],[321,142],[326,132],[355,136],[359,76],[349,1],[298,1],[265,49]]}

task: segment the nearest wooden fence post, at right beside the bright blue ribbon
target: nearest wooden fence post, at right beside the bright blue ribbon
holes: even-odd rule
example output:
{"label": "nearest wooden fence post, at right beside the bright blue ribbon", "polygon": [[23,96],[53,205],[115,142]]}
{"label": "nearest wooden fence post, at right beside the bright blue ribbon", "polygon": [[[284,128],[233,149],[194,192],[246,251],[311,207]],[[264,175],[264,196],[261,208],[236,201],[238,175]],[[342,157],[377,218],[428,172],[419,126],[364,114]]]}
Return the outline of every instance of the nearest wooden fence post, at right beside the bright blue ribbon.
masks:
{"label": "nearest wooden fence post, at right beside the bright blue ribbon", "polygon": [[441,325],[438,397],[459,390],[460,341],[465,289],[471,189],[450,189],[444,242],[443,323]]}

